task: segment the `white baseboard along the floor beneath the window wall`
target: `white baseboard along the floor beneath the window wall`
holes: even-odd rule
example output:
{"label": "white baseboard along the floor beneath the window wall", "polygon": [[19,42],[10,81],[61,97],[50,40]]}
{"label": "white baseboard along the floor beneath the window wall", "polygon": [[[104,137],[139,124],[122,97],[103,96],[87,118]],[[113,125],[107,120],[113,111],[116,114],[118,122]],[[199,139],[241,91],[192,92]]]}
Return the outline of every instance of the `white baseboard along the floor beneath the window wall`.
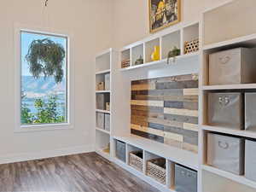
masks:
{"label": "white baseboard along the floor beneath the window wall", "polygon": [[93,145],[82,145],[73,148],[58,148],[55,150],[48,151],[40,151],[40,152],[32,152],[32,153],[24,153],[24,154],[8,154],[4,156],[0,156],[0,165],[7,163],[15,163],[26,160],[39,160],[50,157],[58,157],[70,154],[84,154],[89,152],[94,152]]}

